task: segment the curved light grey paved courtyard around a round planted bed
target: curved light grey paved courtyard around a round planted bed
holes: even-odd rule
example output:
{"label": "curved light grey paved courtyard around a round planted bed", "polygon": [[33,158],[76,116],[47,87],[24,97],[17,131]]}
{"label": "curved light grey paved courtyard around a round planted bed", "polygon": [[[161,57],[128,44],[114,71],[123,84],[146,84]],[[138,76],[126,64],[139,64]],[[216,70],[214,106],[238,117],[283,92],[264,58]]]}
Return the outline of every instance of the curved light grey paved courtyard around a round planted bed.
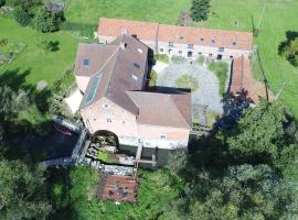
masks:
{"label": "curved light grey paved courtyard around a round planted bed", "polygon": [[203,66],[172,63],[158,74],[157,86],[177,87],[177,79],[182,75],[191,75],[199,81],[199,89],[192,92],[192,105],[203,105],[217,113],[223,112],[217,77]]}

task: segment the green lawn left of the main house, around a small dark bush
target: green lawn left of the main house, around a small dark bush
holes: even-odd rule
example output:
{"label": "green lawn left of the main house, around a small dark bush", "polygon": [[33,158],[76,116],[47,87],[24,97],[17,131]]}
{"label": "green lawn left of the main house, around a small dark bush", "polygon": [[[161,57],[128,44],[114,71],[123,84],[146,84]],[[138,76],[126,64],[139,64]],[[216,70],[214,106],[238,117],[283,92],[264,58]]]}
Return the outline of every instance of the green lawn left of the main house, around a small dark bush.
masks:
{"label": "green lawn left of the main house, around a small dark bush", "polygon": [[[77,40],[70,32],[41,34],[31,28],[19,25],[12,19],[0,18],[0,38],[26,45],[12,63],[0,68],[0,75],[13,69],[19,69],[20,73],[30,70],[24,84],[35,85],[40,80],[46,80],[52,86],[74,63]],[[58,51],[44,53],[38,46],[40,40],[57,41]]]}

